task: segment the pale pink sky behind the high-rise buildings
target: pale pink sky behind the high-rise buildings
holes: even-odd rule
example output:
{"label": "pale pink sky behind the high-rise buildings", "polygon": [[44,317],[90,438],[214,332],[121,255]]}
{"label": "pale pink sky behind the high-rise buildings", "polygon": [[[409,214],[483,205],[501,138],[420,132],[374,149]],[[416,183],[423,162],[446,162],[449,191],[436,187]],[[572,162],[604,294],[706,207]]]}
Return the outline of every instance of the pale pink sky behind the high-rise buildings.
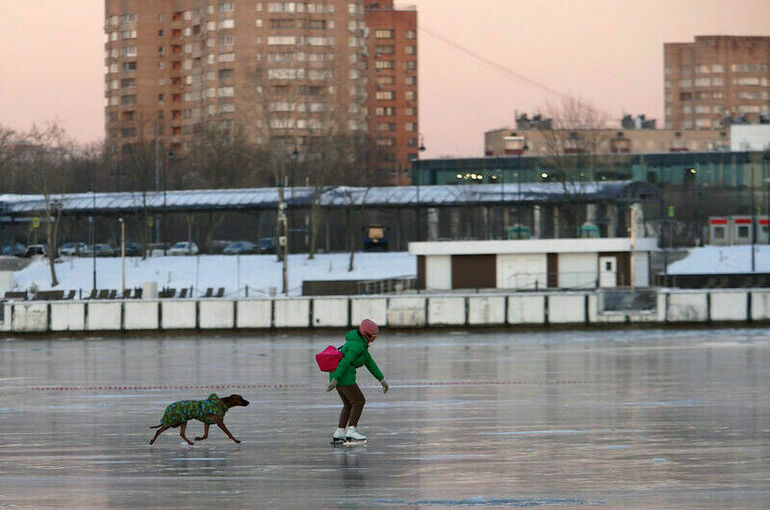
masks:
{"label": "pale pink sky behind the high-rise buildings", "polygon": [[[524,75],[620,118],[663,119],[663,43],[770,35],[770,0],[412,0],[423,157],[481,156],[484,131],[555,97]],[[102,0],[0,0],[0,125],[57,120],[104,137]],[[439,34],[504,69],[439,41]],[[35,63],[36,65],[32,65]]]}

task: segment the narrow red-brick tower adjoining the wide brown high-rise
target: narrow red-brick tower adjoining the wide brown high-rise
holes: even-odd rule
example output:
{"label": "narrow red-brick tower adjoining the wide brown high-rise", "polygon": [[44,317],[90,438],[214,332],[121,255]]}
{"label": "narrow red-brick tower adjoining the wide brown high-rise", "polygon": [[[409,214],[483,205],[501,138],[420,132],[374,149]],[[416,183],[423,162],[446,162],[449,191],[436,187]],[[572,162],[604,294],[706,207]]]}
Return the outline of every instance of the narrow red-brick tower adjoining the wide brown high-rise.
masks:
{"label": "narrow red-brick tower adjoining the wide brown high-rise", "polygon": [[366,0],[369,132],[380,149],[380,169],[395,185],[411,182],[419,157],[417,11],[393,0]]}

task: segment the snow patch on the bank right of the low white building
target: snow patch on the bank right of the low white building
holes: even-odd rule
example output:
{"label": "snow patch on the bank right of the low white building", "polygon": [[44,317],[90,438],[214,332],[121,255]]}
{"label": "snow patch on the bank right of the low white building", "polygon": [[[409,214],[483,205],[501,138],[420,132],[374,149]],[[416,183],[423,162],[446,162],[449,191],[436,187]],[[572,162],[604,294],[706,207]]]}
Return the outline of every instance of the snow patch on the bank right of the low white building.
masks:
{"label": "snow patch on the bank right of the low white building", "polygon": [[[770,273],[770,246],[754,245],[754,271]],[[704,246],[668,266],[669,274],[750,273],[751,245]]]}

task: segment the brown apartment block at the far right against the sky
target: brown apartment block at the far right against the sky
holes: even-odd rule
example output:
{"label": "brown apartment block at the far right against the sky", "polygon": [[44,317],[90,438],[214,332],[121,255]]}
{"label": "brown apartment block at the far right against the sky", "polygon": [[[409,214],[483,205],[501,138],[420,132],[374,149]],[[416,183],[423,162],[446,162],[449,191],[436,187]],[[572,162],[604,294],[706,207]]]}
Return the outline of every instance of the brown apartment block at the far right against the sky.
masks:
{"label": "brown apartment block at the far right against the sky", "polygon": [[697,36],[664,45],[667,129],[767,122],[770,37]]}

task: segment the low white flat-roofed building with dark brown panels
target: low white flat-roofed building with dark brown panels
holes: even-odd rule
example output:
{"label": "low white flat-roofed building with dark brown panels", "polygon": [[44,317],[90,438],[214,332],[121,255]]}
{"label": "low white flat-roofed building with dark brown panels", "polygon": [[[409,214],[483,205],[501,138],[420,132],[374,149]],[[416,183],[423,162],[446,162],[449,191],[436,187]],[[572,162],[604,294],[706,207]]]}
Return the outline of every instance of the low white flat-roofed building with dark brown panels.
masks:
{"label": "low white flat-roofed building with dark brown panels", "polygon": [[[632,246],[633,243],[633,246]],[[417,285],[450,289],[647,287],[657,238],[409,243]]]}

